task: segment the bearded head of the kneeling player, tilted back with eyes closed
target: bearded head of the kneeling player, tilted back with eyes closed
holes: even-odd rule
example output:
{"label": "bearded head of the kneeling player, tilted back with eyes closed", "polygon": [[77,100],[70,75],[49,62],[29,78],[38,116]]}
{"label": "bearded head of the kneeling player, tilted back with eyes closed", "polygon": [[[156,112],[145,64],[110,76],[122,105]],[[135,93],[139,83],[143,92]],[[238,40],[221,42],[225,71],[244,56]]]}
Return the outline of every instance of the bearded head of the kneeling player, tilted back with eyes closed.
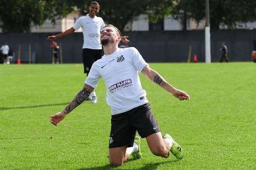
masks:
{"label": "bearded head of the kneeling player, tilted back with eyes closed", "polygon": [[105,27],[101,30],[101,44],[107,45],[108,43],[118,42],[121,37],[113,27]]}

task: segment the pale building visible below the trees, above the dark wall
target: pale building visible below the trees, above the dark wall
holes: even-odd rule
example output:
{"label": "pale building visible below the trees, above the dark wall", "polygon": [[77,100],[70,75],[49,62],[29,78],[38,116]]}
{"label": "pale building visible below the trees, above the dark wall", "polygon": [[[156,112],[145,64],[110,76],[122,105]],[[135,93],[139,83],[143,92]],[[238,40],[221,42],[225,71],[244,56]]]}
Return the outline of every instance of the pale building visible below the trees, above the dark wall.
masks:
{"label": "pale building visible below the trees, above the dark wall", "polygon": [[[51,23],[51,20],[46,20],[43,25],[32,26],[31,32],[64,32],[71,28],[76,20],[80,17],[80,12],[75,10],[63,19],[56,19],[56,23]],[[194,19],[187,19],[187,28],[185,30],[201,30],[205,27],[205,20],[197,23]],[[237,29],[256,29],[255,22],[237,23]],[[228,29],[226,25],[220,25],[220,29]],[[165,16],[164,19],[159,19],[157,23],[150,23],[148,15],[141,14],[132,20],[128,21],[124,31],[181,31],[183,24],[180,19],[175,19],[171,15]],[[0,32],[2,32],[0,28]],[[76,32],[82,32],[80,28]]]}

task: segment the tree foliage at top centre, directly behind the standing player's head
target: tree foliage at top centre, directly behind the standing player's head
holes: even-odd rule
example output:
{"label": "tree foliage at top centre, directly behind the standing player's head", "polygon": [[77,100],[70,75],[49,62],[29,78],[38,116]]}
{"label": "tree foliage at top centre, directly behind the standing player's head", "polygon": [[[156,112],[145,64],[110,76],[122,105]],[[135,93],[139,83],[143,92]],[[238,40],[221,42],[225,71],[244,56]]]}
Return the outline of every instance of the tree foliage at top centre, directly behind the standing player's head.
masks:
{"label": "tree foliage at top centre, directly behind the standing player's head", "polygon": [[[81,14],[86,14],[87,7],[91,0],[69,1],[71,6],[76,6]],[[164,15],[170,14],[174,4],[172,0],[98,0],[100,3],[100,13],[106,23],[111,23],[123,30],[125,25],[135,16],[148,14],[150,22],[157,22]]]}

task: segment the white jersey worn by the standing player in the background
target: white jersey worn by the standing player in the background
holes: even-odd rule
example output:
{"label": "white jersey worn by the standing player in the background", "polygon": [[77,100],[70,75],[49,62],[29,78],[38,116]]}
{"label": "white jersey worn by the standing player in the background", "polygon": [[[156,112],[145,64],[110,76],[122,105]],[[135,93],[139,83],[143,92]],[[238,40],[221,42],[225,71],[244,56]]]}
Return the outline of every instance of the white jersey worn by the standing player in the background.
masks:
{"label": "white jersey worn by the standing player in the background", "polygon": [[104,26],[105,23],[103,19],[98,16],[90,18],[87,14],[77,19],[73,28],[77,30],[82,27],[82,34],[84,35],[84,45],[82,45],[82,48],[102,49],[100,31]]}

